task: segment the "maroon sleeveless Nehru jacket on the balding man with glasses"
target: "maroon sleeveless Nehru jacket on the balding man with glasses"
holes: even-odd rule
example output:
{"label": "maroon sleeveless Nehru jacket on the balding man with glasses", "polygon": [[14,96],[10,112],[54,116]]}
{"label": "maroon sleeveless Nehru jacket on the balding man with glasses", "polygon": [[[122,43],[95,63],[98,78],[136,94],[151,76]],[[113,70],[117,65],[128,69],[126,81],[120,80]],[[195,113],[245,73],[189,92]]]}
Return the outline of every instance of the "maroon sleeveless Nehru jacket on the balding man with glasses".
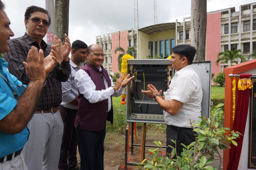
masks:
{"label": "maroon sleeveless Nehru jacket on the balding man with glasses", "polygon": [[[102,72],[98,68],[91,65],[89,62],[82,67],[94,82],[96,90],[106,89],[104,84],[103,75],[108,82],[108,86],[111,87],[111,81],[108,72],[100,66]],[[75,127],[80,123],[80,129],[86,131],[101,131],[103,130],[106,120],[113,124],[113,106],[112,106],[112,96],[111,96],[111,110],[108,112],[108,99],[102,100],[97,103],[90,103],[83,94],[77,97],[78,102],[78,112],[75,118]]]}

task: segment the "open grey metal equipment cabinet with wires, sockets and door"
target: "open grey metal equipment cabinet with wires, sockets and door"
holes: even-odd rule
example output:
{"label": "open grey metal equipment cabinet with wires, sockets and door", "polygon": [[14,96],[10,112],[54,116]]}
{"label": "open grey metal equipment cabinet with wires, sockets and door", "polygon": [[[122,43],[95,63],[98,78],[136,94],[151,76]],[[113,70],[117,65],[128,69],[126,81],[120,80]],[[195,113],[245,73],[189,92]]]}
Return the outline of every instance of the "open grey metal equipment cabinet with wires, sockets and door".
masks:
{"label": "open grey metal equipment cabinet with wires, sockets and door", "polygon": [[[175,72],[171,65],[170,60],[167,59],[127,60],[127,74],[135,77],[128,84],[126,90],[127,122],[165,123],[163,109],[152,98],[143,95],[141,90],[147,90],[147,85],[153,84],[157,90],[162,90],[162,95],[164,95]],[[200,77],[201,82],[207,84],[204,87],[206,90],[203,90],[203,100],[206,101],[204,103],[206,105],[202,108],[201,113],[204,113],[202,116],[208,116],[210,111],[211,62],[195,62],[193,65],[195,70],[203,72],[199,76],[202,76],[202,78]],[[207,80],[209,83],[205,83]]]}

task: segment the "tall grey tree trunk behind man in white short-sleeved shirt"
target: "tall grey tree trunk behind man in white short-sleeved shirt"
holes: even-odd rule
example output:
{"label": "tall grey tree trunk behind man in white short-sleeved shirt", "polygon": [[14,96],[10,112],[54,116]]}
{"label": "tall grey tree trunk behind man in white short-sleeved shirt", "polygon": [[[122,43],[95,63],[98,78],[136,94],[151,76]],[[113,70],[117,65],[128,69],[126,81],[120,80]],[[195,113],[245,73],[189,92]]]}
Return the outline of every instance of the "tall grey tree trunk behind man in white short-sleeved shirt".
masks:
{"label": "tall grey tree trunk behind man in white short-sleeved shirt", "polygon": [[191,46],[197,49],[194,61],[205,61],[207,0],[191,0]]}

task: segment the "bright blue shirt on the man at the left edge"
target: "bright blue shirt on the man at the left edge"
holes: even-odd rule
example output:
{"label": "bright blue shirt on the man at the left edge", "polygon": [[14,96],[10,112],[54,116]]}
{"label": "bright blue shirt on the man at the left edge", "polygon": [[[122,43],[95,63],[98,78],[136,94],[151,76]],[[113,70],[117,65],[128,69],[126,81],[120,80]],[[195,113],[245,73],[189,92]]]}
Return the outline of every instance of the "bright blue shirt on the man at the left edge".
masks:
{"label": "bright blue shirt on the man at the left edge", "polygon": [[[10,74],[7,70],[8,63],[0,58],[0,73],[12,85],[17,96],[20,97],[26,89],[18,87],[22,82],[18,81],[16,77]],[[9,84],[7,84],[2,77],[0,77],[0,120],[7,116],[16,106],[17,100],[14,97],[13,91]],[[27,127],[18,134],[5,134],[0,132],[0,157],[4,157],[22,149],[28,140],[29,130]]]}

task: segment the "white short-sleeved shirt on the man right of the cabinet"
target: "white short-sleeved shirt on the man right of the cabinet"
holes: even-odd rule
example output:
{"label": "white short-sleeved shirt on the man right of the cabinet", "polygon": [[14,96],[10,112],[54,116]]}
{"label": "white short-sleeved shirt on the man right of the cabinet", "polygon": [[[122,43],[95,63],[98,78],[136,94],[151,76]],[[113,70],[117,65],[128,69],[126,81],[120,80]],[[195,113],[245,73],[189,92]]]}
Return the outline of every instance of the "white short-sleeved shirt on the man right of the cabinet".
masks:
{"label": "white short-sleeved shirt on the man right of the cabinet", "polygon": [[191,128],[189,119],[200,120],[198,117],[201,116],[202,96],[201,81],[192,66],[188,65],[177,71],[165,93],[165,100],[174,99],[184,104],[173,116],[163,111],[165,122],[169,125]]}

